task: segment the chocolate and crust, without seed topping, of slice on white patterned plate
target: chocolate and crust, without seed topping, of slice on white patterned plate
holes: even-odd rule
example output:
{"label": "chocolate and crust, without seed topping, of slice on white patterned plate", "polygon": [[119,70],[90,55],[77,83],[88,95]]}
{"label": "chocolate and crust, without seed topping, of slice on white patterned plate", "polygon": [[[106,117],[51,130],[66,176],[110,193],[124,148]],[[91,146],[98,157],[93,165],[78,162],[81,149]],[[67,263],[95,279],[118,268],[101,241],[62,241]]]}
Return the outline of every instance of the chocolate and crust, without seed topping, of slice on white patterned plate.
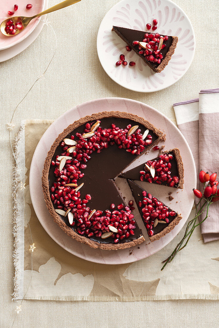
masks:
{"label": "chocolate and crust, without seed topping, of slice on white patterned plate", "polygon": [[[142,42],[143,40],[145,40],[145,34],[146,35],[150,34],[150,35],[153,35],[153,37],[154,37],[155,34],[157,34],[157,33],[150,33],[148,31],[146,32],[146,31],[131,30],[131,29],[126,29],[124,27],[119,27],[119,26],[113,26],[112,30],[115,31],[116,34],[118,34],[120,36],[120,38],[123,41],[125,41],[127,43],[127,45],[129,47],[131,47],[142,58],[142,60],[156,73],[159,73],[164,70],[164,68],[168,64],[169,60],[171,59],[171,56],[173,55],[176,45],[177,45],[177,42],[178,42],[177,36],[168,36],[167,40],[164,39],[162,42],[162,45],[163,45],[163,47],[165,45],[165,48],[160,49],[160,54],[162,55],[162,58],[160,58],[161,62],[156,63],[156,62],[147,60],[145,53],[141,53],[142,49],[139,49],[139,44],[133,45],[133,41]],[[147,42],[145,42],[145,44],[146,43],[148,44],[148,42],[152,41],[152,38],[148,39],[146,37],[146,39],[147,39]],[[158,40],[160,41],[160,39],[158,39]],[[157,50],[157,47],[159,47],[159,43],[155,42],[155,46],[156,46],[156,50]],[[147,49],[147,48],[144,48],[143,50],[145,50],[145,49]]]}

